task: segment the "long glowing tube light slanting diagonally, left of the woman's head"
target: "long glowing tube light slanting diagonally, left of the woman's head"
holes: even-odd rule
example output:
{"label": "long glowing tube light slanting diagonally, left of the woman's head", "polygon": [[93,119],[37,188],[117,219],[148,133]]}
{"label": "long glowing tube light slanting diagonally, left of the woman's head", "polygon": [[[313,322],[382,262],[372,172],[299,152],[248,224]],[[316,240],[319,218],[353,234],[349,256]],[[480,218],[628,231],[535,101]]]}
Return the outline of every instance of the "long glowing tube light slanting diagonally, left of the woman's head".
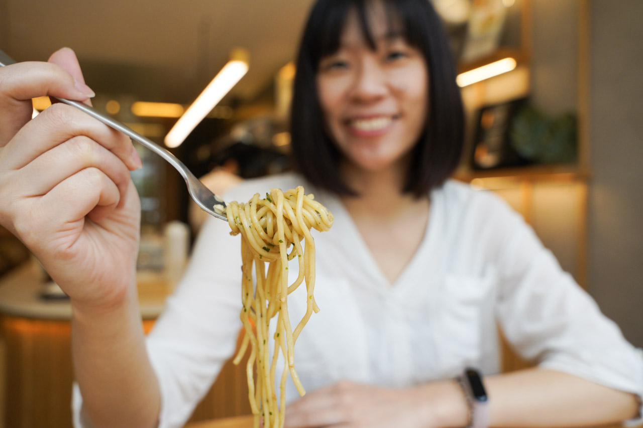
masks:
{"label": "long glowing tube light slanting diagonally, left of the woman's head", "polygon": [[167,147],[178,147],[192,130],[203,120],[239,80],[248,73],[248,53],[235,49],[231,60],[214,76],[183,116],[165,136]]}

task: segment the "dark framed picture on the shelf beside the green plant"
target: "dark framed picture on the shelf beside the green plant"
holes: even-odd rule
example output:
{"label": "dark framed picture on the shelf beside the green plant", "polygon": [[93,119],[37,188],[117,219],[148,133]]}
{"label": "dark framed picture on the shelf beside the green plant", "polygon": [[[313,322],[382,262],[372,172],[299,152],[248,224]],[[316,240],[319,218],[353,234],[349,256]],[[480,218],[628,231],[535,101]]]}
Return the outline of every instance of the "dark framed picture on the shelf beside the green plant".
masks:
{"label": "dark framed picture on the shelf beside the green plant", "polygon": [[526,98],[485,105],[476,112],[471,167],[474,170],[527,165],[510,140],[516,113],[527,103]]}

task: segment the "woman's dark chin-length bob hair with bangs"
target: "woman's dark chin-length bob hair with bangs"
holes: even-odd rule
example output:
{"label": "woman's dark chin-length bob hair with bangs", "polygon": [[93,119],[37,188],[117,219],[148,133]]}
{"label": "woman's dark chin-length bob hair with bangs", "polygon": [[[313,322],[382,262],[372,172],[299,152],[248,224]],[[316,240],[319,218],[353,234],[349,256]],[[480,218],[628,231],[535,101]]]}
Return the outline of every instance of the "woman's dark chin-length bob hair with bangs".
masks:
{"label": "woman's dark chin-length bob hair with bangs", "polygon": [[325,129],[316,75],[320,60],[338,51],[347,15],[353,10],[358,13],[365,40],[370,48],[376,48],[367,10],[375,1],[385,7],[389,27],[401,27],[402,36],[421,51],[429,69],[428,117],[412,149],[403,189],[420,197],[444,183],[455,170],[464,140],[464,112],[453,56],[430,0],[318,0],[314,4],[296,58],[290,125],[294,164],[315,186],[340,195],[356,194],[341,177],[341,154]]}

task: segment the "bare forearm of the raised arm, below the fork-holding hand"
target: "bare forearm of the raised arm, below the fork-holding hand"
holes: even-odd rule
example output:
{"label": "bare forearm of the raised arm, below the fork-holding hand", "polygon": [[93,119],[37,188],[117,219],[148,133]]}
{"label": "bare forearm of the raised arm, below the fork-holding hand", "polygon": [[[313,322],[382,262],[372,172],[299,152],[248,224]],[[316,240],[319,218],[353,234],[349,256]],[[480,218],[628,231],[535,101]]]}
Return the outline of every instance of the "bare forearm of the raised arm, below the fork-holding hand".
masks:
{"label": "bare forearm of the raised arm, below the fork-holding hand", "polygon": [[93,426],[156,426],[159,386],[145,349],[136,287],[109,310],[72,306],[75,376]]}

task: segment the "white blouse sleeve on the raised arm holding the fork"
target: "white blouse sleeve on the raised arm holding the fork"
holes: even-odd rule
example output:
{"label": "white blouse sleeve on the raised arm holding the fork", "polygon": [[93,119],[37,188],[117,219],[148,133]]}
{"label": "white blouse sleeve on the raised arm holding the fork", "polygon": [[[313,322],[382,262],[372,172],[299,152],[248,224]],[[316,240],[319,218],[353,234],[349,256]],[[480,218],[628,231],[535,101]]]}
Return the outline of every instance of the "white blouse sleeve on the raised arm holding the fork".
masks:
{"label": "white blouse sleeve on the raised arm holding the fork", "polygon": [[[190,263],[147,336],[147,352],[161,391],[159,428],[182,427],[235,350],[241,328],[240,239],[226,222],[208,219]],[[73,419],[83,421],[73,393]]]}

